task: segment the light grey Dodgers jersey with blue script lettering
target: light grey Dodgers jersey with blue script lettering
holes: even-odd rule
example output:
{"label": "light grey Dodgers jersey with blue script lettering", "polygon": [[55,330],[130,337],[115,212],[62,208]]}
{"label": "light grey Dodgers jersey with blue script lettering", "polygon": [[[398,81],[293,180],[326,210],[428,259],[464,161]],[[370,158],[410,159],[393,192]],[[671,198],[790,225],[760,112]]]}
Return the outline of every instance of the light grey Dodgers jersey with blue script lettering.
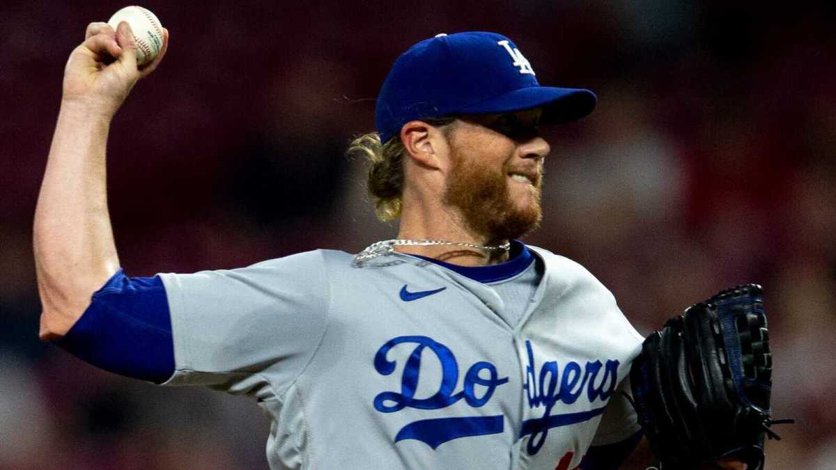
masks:
{"label": "light grey Dodgers jersey with blue script lettering", "polygon": [[543,278],[513,325],[491,285],[400,253],[161,274],[166,385],[255,397],[273,469],[573,468],[639,431],[619,389],[643,338],[586,269],[528,248]]}

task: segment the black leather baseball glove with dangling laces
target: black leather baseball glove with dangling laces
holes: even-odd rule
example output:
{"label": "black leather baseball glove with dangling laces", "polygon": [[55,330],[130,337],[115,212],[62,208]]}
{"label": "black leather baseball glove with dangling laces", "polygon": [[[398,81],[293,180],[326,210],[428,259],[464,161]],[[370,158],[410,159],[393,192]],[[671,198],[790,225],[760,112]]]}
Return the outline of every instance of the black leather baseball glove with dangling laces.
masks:
{"label": "black leather baseball glove with dangling laces", "polygon": [[733,456],[763,467],[772,353],[762,290],[737,286],[691,305],[645,339],[630,370],[639,424],[662,470]]}

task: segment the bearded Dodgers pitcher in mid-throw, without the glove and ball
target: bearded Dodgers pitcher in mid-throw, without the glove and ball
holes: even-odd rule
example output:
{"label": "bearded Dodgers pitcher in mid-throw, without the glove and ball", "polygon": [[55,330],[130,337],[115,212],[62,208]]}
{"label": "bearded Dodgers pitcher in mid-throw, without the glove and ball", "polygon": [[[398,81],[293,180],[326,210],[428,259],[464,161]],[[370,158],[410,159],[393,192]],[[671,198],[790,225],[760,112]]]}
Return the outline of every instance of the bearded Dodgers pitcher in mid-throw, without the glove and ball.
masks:
{"label": "bearded Dodgers pitcher in mid-throw, without the glove and ball", "polygon": [[640,441],[621,391],[643,338],[587,270],[517,241],[541,218],[538,126],[587,115],[592,92],[540,86],[499,34],[428,38],[385,80],[378,134],[352,146],[397,239],[130,278],[105,141],[165,37],[137,69],[127,23],[91,23],[69,57],[34,225],[44,340],[256,398],[272,468],[619,467]]}

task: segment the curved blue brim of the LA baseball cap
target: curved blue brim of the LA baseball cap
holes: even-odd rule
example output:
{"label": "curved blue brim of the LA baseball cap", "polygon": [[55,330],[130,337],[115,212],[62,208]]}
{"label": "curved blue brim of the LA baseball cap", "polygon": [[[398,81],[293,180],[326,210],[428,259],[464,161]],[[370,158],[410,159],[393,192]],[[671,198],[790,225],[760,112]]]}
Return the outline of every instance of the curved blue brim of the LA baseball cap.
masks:
{"label": "curved blue brim of the LA baseball cap", "polygon": [[456,114],[493,114],[542,108],[540,124],[579,120],[594,110],[598,97],[589,89],[532,86],[467,106]]}

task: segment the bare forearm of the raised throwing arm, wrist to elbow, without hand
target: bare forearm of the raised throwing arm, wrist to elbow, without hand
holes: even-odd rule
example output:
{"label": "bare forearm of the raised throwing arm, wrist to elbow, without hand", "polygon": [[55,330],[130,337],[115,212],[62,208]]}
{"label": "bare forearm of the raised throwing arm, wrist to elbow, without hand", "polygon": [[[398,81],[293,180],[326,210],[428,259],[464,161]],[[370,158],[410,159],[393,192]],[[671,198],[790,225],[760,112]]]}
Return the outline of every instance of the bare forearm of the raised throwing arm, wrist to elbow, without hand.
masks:
{"label": "bare forearm of the raised throwing arm, wrist to elbow, without hand", "polygon": [[33,227],[43,340],[64,335],[119,268],[107,207],[109,129],[109,113],[62,104]]}

